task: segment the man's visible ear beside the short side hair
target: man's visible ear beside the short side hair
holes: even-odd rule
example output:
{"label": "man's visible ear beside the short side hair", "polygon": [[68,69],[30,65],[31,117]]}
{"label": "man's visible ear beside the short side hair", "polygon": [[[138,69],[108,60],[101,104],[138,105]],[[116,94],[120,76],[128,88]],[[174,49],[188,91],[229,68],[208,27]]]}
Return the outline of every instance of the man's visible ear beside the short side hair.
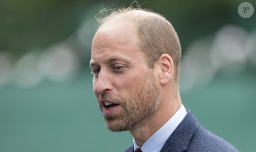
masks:
{"label": "man's visible ear beside the short side hair", "polygon": [[173,79],[174,64],[173,59],[168,54],[162,54],[158,59],[159,81],[166,84]]}

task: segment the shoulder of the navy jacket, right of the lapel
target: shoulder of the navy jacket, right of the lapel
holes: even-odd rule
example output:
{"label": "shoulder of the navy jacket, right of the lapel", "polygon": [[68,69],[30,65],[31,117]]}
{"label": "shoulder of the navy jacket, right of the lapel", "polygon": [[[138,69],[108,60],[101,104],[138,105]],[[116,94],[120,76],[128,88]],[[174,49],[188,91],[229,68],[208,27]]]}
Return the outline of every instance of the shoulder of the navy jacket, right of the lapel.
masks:
{"label": "shoulder of the navy jacket, right of the lapel", "polygon": [[237,148],[211,131],[198,127],[188,146],[188,152],[238,152]]}

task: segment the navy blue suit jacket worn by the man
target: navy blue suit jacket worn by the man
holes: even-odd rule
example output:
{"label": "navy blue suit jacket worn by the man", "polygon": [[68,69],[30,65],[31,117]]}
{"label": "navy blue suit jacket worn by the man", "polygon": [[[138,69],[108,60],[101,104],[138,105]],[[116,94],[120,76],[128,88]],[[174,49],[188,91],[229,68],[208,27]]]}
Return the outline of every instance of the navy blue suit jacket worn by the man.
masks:
{"label": "navy blue suit jacket worn by the man", "polygon": [[[188,109],[187,112],[160,152],[238,152],[229,142],[201,127]],[[124,150],[133,151],[133,145]]]}

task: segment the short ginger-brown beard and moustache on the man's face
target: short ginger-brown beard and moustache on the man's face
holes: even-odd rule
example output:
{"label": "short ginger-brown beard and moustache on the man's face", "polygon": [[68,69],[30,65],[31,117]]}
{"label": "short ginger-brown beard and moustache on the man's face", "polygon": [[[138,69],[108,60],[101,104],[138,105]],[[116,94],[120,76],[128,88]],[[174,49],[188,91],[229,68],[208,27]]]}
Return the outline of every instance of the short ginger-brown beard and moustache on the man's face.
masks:
{"label": "short ginger-brown beard and moustache on the man's face", "polygon": [[[100,94],[100,98],[120,104],[121,114],[114,113],[103,116],[106,127],[110,131],[118,132],[131,129],[155,112],[158,109],[161,95],[155,83],[153,72],[150,72],[144,77],[141,85],[138,85],[138,90],[133,97],[113,96],[105,93]],[[98,104],[102,111],[102,104],[99,101]]]}

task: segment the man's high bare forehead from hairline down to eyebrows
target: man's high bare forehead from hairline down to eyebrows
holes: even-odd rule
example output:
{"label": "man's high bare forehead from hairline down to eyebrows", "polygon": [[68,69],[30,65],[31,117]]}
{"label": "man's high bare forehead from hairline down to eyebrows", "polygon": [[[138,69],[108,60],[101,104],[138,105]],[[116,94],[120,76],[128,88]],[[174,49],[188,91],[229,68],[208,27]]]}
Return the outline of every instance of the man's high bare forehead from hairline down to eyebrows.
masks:
{"label": "man's high bare forehead from hairline down to eyebrows", "polygon": [[137,60],[139,56],[144,58],[142,51],[139,51],[136,27],[132,22],[106,22],[96,32],[91,62],[103,62],[108,58]]}

